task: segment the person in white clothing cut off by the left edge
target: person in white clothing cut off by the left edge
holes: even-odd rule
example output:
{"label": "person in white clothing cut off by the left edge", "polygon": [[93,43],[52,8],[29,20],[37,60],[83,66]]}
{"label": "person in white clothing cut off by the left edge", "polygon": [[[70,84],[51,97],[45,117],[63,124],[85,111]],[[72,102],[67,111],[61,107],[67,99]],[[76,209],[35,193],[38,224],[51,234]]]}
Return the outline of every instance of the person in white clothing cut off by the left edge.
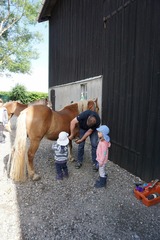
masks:
{"label": "person in white clothing cut off by the left edge", "polygon": [[8,123],[7,109],[3,106],[3,100],[0,99],[0,143],[5,143],[5,135],[3,131]]}

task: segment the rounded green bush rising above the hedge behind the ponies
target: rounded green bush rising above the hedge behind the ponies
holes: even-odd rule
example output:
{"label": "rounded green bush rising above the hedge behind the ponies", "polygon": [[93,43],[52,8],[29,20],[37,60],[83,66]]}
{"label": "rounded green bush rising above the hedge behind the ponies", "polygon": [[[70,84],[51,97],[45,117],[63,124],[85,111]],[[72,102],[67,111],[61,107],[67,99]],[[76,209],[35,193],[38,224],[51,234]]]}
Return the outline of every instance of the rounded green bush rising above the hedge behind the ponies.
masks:
{"label": "rounded green bush rising above the hedge behind the ponies", "polygon": [[10,93],[10,99],[12,101],[20,101],[21,103],[27,103],[27,90],[25,86],[17,84]]}

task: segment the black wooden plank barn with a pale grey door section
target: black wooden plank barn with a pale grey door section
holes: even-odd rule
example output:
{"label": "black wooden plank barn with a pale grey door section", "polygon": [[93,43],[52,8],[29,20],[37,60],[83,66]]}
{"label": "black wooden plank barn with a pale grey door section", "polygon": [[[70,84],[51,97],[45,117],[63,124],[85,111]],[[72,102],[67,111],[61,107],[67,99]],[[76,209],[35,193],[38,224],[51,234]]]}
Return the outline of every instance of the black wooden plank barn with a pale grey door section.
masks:
{"label": "black wooden plank barn with a pale grey door section", "polygon": [[160,178],[160,1],[45,0],[55,109],[98,97],[110,160]]}

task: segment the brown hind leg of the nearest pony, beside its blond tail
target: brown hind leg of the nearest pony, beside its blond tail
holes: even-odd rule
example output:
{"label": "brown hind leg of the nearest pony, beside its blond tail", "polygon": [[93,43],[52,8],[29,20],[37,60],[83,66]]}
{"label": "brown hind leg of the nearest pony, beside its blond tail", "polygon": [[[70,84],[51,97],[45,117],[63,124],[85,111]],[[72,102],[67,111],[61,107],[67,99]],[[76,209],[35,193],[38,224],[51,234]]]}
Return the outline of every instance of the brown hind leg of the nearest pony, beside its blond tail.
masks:
{"label": "brown hind leg of the nearest pony, beside its blond tail", "polygon": [[34,156],[35,156],[35,153],[39,147],[39,143],[40,141],[30,141],[30,147],[28,149],[28,165],[27,165],[27,169],[28,169],[28,175],[29,177],[33,180],[33,181],[37,181],[39,180],[41,177],[35,173],[34,171],[34,163],[33,163],[33,160],[34,160]]}

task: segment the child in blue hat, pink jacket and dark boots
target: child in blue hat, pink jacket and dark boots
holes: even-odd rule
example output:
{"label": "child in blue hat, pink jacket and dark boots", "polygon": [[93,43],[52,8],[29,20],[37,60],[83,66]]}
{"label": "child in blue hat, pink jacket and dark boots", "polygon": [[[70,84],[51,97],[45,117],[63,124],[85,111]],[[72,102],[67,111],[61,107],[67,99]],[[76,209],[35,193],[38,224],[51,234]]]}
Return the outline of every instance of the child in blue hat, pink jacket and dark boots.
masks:
{"label": "child in blue hat, pink jacket and dark boots", "polygon": [[97,146],[97,161],[99,164],[99,180],[96,181],[95,187],[106,187],[107,175],[105,172],[106,163],[108,161],[108,148],[111,146],[110,137],[108,136],[109,128],[106,125],[101,125],[97,128],[99,143]]}

